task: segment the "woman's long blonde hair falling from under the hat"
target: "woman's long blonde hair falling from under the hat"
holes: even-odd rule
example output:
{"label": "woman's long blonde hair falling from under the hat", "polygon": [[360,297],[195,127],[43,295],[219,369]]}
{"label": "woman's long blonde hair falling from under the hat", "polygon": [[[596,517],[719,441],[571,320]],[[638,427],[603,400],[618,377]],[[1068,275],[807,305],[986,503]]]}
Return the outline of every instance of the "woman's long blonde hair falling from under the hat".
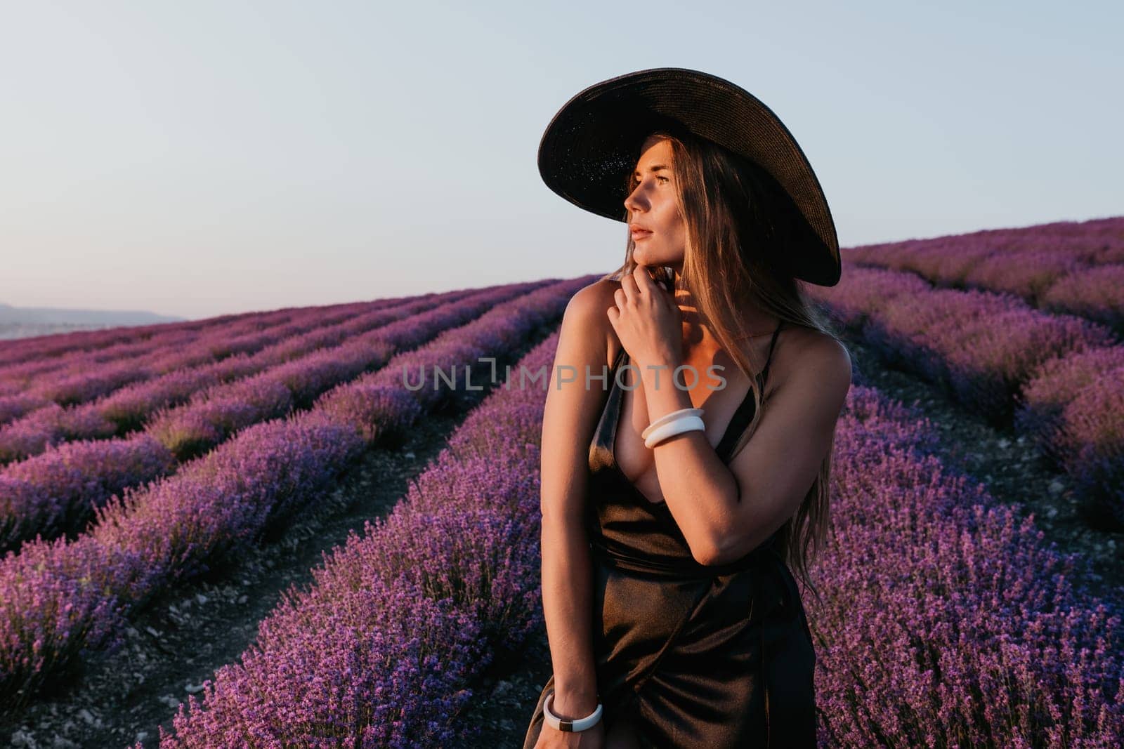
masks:
{"label": "woman's long blonde hair falling from under the hat", "polygon": [[[753,376],[761,366],[751,362],[740,345],[751,332],[738,311],[755,304],[789,327],[814,328],[836,340],[840,338],[832,330],[830,318],[806,296],[804,282],[792,273],[791,248],[796,243],[810,240],[812,235],[776,180],[753,162],[690,133],[658,130],[651,137],[671,143],[676,200],[687,236],[678,286],[670,267],[654,268],[653,275],[664,287],[690,294],[700,321],[746,375],[753,391],[753,419],[735,442],[733,457],[752,437],[762,411],[768,408]],[[629,170],[625,194],[632,193],[631,181]],[[629,212],[626,221],[631,220]],[[629,236],[624,265],[604,277],[620,280],[632,273],[636,267],[634,248]],[[808,569],[825,547],[831,526],[833,450],[834,436],[815,482],[778,536],[778,552],[813,592],[817,603],[823,600]]]}

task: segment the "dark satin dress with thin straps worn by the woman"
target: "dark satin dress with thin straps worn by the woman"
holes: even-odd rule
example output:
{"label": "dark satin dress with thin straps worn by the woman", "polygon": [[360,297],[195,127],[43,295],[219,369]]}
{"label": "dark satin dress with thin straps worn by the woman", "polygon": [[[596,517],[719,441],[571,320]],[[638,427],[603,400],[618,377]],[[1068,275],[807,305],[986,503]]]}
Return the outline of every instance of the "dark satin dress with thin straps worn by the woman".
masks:
{"label": "dark satin dress with thin straps worn by the woman", "polygon": [[[777,334],[765,366],[764,386]],[[622,390],[611,389],[589,450],[587,528],[592,640],[606,730],[628,715],[643,747],[815,747],[815,650],[778,533],[740,560],[698,564],[665,502],[649,500],[614,457]],[[747,392],[719,441],[723,463],[753,418]],[[543,728],[543,687],[524,749]]]}

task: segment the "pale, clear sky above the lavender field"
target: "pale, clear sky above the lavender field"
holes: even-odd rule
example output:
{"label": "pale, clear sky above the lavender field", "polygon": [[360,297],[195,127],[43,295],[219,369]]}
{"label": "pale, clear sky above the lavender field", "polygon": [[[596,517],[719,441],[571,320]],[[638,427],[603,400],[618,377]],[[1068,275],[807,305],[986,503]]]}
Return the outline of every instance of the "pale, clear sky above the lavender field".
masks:
{"label": "pale, clear sky above the lavender field", "polygon": [[0,1],[0,302],[201,318],[607,272],[570,97],[754,93],[844,246],[1124,213],[1111,2]]}

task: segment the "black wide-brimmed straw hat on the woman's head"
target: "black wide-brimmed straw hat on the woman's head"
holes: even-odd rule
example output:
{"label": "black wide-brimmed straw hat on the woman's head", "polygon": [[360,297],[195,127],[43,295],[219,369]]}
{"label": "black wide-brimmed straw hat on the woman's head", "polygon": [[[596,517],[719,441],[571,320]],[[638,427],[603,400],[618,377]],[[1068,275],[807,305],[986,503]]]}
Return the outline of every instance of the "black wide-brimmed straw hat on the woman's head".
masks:
{"label": "black wide-brimmed straw hat on the woman's head", "polygon": [[823,286],[840,280],[840,248],[827,199],[783,122],[756,97],[716,75],[654,67],[579,92],[538,144],[546,185],[587,211],[627,221],[627,175],[653,130],[686,128],[768,172],[810,229],[789,258],[794,275]]}

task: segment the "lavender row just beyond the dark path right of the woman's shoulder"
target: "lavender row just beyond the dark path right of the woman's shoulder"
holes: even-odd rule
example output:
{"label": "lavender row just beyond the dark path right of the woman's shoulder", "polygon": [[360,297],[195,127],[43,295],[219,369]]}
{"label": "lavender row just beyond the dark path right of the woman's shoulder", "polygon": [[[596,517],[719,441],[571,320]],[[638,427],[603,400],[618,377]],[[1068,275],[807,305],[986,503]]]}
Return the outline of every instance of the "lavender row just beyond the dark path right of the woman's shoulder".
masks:
{"label": "lavender row just beyond the dark path right of the woman's shoulder", "polygon": [[847,267],[809,291],[885,362],[1028,435],[1073,476],[1093,522],[1124,527],[1124,346],[1109,330],[879,268]]}

